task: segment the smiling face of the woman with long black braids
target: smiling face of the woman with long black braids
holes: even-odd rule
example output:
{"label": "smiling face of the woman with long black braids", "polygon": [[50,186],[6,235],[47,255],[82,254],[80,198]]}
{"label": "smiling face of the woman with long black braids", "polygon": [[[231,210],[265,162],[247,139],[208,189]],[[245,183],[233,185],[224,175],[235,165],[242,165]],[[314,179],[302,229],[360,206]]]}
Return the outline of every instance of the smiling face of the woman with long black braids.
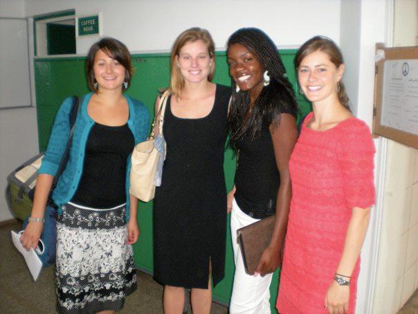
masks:
{"label": "smiling face of the woman with long black braids", "polygon": [[258,96],[263,89],[264,67],[242,44],[228,47],[229,74],[242,91]]}

